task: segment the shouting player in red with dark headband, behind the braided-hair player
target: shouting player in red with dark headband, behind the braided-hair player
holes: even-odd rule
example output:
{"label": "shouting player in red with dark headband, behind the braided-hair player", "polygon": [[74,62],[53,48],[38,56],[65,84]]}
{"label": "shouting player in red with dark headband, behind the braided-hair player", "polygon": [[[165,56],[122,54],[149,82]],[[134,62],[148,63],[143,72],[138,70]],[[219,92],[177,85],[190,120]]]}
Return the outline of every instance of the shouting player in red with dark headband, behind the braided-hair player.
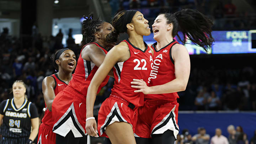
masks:
{"label": "shouting player in red with dark headband, behind the braided-hair player", "polygon": [[39,127],[37,144],[55,144],[56,134],[52,132],[52,102],[55,96],[68,86],[76,66],[75,58],[75,53],[68,48],[60,49],[54,54],[53,64],[58,73],[47,76],[42,82],[46,111]]}

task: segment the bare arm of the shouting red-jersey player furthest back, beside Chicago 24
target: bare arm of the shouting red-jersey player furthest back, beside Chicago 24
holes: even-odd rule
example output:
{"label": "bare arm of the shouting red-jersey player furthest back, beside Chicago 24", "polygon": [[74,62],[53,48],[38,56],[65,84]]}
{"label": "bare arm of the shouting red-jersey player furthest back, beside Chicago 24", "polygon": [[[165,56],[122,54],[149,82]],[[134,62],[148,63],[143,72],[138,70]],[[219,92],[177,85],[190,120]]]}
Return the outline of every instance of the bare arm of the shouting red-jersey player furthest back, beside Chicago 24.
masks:
{"label": "bare arm of the shouting red-jersey player furthest back, beside Chicago 24", "polygon": [[43,90],[44,102],[46,103],[46,106],[49,111],[52,111],[52,103],[55,98],[54,86],[55,86],[55,81],[52,76],[47,76],[46,78],[43,79],[42,90]]}

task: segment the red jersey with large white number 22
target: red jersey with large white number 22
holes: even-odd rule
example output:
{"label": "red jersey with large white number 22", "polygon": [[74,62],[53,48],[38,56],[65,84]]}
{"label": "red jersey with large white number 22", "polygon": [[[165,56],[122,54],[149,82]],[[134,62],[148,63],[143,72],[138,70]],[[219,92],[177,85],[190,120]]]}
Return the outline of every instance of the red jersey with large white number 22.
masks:
{"label": "red jersey with large white number 22", "polygon": [[[148,45],[144,42],[146,49],[141,49],[133,46],[129,40],[124,40],[128,44],[130,50],[130,58],[124,62],[119,62],[114,65],[114,86],[112,95],[122,97],[124,100],[132,103],[134,106],[143,106],[144,94],[142,92],[135,93],[130,82],[133,79],[143,79],[148,81],[151,62],[153,62],[152,52]],[[151,62],[150,62],[151,60]]]}

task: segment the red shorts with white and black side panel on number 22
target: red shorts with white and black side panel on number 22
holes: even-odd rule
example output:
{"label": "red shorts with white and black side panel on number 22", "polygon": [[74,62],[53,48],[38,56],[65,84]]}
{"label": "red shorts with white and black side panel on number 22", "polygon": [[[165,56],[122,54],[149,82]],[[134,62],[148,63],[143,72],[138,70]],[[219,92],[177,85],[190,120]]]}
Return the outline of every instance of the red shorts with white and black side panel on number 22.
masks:
{"label": "red shorts with white and black side panel on number 22", "polygon": [[101,137],[106,137],[106,127],[114,122],[127,122],[133,132],[137,123],[138,108],[130,108],[129,102],[123,98],[110,95],[101,105],[98,112],[98,133]]}

